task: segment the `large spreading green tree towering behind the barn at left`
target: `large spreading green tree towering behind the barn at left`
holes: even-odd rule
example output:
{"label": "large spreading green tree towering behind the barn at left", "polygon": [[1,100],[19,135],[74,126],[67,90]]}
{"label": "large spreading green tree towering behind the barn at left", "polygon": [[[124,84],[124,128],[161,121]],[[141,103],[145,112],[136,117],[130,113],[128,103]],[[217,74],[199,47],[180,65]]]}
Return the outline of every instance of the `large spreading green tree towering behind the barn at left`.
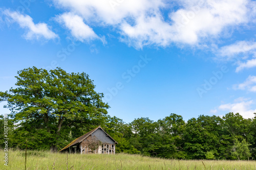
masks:
{"label": "large spreading green tree towering behind the barn at left", "polygon": [[94,90],[93,81],[84,72],[33,67],[18,71],[16,78],[16,87],[0,92],[0,101],[8,102],[5,107],[11,110],[19,128],[48,133],[52,151],[57,150],[63,128],[96,124],[109,108],[102,102],[103,94]]}

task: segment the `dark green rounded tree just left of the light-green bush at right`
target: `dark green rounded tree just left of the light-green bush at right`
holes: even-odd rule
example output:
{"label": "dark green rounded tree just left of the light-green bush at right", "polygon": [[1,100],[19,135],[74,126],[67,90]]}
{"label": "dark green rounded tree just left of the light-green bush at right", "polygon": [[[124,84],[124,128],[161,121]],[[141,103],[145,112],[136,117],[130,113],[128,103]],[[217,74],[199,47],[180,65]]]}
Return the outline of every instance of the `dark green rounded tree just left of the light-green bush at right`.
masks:
{"label": "dark green rounded tree just left of the light-green bush at right", "polygon": [[183,146],[188,159],[206,159],[205,153],[220,147],[221,122],[220,117],[204,115],[188,120]]}

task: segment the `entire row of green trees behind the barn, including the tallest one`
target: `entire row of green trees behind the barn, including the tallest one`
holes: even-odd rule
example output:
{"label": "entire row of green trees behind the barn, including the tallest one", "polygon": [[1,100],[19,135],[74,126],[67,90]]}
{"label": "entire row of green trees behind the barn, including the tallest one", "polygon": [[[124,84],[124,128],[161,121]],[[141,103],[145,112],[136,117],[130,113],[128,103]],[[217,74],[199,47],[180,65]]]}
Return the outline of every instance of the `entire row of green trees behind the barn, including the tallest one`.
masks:
{"label": "entire row of green trees behind the barn, including the tallest one", "polygon": [[[7,101],[9,147],[51,150],[65,147],[99,125],[119,144],[116,152],[175,159],[253,159],[256,156],[256,115],[200,115],[187,122],[181,115],[153,121],[147,117],[124,123],[108,115],[103,94],[82,73],[36,67],[18,71],[15,88],[0,92]],[[0,126],[4,127],[3,115]],[[4,129],[0,146],[4,147]],[[27,142],[26,142],[27,141]]]}

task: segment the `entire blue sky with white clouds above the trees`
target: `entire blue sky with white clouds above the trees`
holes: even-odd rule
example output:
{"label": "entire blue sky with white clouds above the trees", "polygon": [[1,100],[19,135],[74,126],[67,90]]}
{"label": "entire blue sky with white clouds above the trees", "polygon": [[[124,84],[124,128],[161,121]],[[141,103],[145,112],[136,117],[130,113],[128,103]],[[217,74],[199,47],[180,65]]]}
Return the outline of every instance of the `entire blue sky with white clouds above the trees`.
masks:
{"label": "entire blue sky with white clouds above the trees", "polygon": [[[129,123],[256,112],[256,2],[0,2],[0,91],[17,70],[86,72]],[[0,114],[9,113],[0,104]]]}

